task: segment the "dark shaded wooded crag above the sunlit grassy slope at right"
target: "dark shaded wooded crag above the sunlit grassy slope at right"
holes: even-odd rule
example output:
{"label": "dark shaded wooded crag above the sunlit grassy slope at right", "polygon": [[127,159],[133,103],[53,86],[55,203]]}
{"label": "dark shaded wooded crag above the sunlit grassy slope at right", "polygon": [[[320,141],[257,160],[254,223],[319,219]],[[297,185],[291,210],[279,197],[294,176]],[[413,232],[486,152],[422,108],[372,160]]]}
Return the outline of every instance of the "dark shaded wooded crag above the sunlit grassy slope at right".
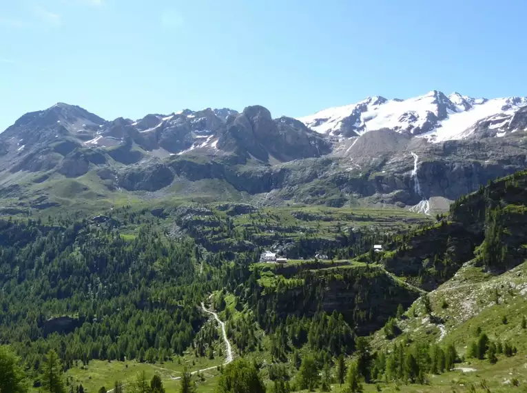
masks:
{"label": "dark shaded wooded crag above the sunlit grassy slope at right", "polygon": [[[420,230],[401,244],[387,245],[383,257],[386,269],[414,279],[417,285],[433,290],[448,280],[467,261],[482,263],[478,248],[488,241],[493,222],[500,225],[499,263],[491,270],[507,270],[527,257],[525,228],[527,225],[527,172],[490,183],[451,206],[448,220],[432,228]],[[440,271],[441,275],[434,274]],[[419,279],[418,279],[419,278]]]}

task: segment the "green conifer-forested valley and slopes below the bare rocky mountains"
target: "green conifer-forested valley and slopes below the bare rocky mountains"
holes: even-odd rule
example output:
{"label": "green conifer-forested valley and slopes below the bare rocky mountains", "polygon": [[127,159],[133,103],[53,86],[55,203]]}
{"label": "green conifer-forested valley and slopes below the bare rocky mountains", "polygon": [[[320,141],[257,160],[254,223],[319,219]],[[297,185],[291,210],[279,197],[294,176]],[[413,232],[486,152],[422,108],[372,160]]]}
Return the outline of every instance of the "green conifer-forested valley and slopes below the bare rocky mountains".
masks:
{"label": "green conifer-forested valley and slopes below the bare rocky mountains", "polygon": [[[256,216],[243,226],[203,207],[184,210],[188,232],[181,210],[132,206],[1,219],[0,391],[435,389],[455,370],[514,367],[527,350],[525,179],[411,228],[302,234],[275,247],[285,263],[259,261]],[[476,293],[476,311],[460,310]]]}

